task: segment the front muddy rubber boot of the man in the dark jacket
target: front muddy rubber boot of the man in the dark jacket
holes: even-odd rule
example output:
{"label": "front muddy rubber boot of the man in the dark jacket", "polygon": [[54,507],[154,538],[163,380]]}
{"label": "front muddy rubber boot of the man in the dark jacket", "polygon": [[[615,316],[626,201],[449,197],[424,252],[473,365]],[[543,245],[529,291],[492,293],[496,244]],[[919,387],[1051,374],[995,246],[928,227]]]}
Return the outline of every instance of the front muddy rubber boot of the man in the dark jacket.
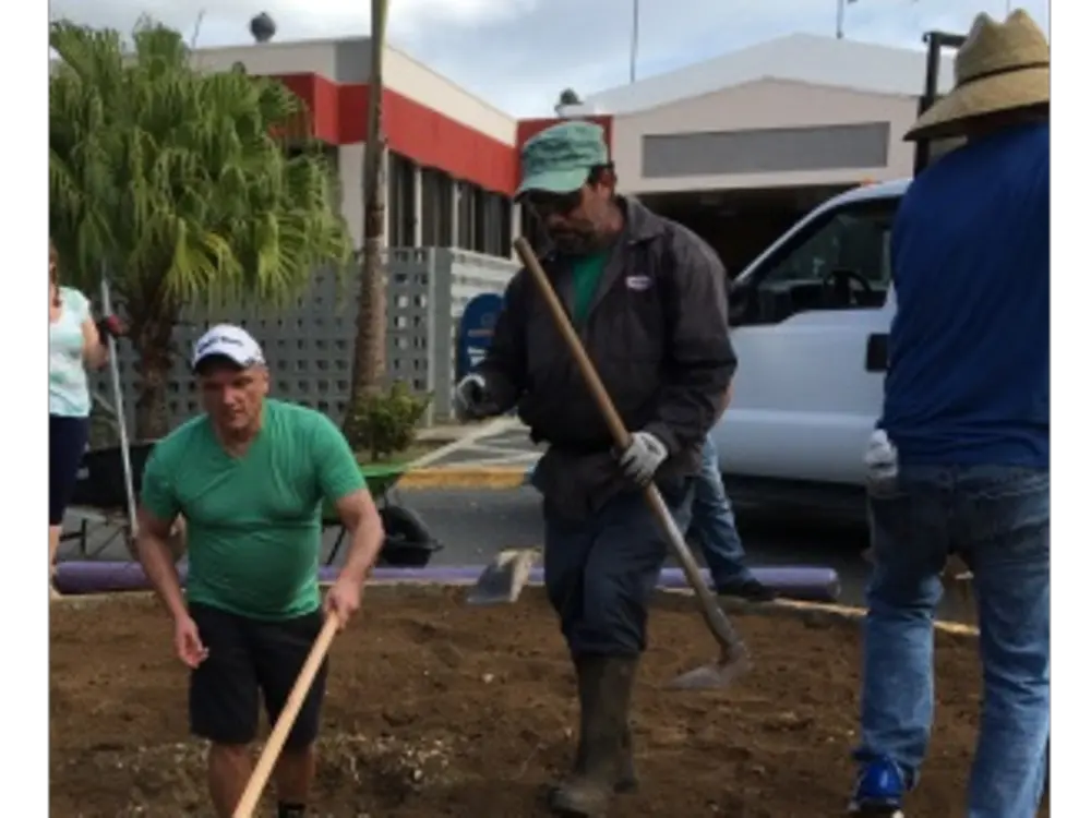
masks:
{"label": "front muddy rubber boot of the man in the dark jacket", "polygon": [[579,746],[572,774],[551,794],[554,815],[606,815],[625,773],[624,745],[636,664],[636,659],[628,657],[580,657],[576,661]]}

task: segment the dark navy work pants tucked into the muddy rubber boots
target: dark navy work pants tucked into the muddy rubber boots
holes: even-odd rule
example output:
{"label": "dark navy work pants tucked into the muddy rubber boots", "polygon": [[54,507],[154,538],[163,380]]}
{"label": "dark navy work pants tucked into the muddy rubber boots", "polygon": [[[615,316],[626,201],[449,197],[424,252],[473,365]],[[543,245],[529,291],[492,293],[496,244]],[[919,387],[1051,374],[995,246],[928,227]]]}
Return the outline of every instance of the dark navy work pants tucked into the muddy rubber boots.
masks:
{"label": "dark navy work pants tucked into the muddy rubber boots", "polygon": [[[694,481],[672,480],[660,490],[685,531]],[[572,655],[642,653],[648,604],[668,552],[643,492],[619,495],[583,520],[561,517],[549,501],[543,514],[546,592]]]}

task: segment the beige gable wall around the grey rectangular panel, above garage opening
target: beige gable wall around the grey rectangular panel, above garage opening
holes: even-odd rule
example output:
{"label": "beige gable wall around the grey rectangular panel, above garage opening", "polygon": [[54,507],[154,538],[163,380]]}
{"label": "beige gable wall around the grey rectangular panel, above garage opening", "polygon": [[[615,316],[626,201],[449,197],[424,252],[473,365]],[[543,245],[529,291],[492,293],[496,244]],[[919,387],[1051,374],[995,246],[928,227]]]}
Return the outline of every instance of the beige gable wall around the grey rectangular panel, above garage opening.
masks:
{"label": "beige gable wall around the grey rectangular panel, above garage opening", "polygon": [[[634,194],[856,184],[864,180],[900,179],[912,173],[913,148],[901,136],[916,117],[916,98],[911,96],[760,80],[615,117],[613,159],[622,190]],[[876,122],[890,124],[887,164],[882,167],[654,179],[646,178],[643,172],[645,136]]]}

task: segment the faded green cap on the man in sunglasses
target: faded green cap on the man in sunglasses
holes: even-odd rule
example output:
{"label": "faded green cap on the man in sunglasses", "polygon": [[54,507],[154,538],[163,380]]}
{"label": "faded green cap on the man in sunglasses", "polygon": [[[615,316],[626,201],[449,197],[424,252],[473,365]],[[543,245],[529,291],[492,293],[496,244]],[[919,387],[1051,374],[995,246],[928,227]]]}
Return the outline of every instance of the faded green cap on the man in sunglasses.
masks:
{"label": "faded green cap on the man in sunglasses", "polygon": [[584,121],[552,125],[523,145],[523,182],[515,195],[529,191],[572,193],[587,182],[591,168],[609,163],[600,125]]}

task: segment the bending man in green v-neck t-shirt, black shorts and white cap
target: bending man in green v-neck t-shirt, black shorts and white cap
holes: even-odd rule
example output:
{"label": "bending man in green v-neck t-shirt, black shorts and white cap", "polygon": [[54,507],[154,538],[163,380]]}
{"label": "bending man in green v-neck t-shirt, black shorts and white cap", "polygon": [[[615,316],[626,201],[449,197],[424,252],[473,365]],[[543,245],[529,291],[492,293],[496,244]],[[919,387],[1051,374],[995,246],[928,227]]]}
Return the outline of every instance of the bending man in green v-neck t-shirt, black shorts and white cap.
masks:
{"label": "bending man in green v-neck t-shirt, black shorts and white cap", "polygon": [[[268,400],[261,347],[220,325],[197,341],[192,365],[205,414],[156,444],[144,471],[139,550],[175,619],[175,648],[192,669],[191,731],[211,742],[208,786],[229,818],[251,772],[259,699],[284,708],[325,616],[344,624],[382,546],[383,527],[356,458],[325,416]],[[350,532],[344,568],[319,591],[321,509]],[[167,539],[184,517],[185,598]],[[277,763],[279,818],[305,811],[326,667],[315,678]]]}

